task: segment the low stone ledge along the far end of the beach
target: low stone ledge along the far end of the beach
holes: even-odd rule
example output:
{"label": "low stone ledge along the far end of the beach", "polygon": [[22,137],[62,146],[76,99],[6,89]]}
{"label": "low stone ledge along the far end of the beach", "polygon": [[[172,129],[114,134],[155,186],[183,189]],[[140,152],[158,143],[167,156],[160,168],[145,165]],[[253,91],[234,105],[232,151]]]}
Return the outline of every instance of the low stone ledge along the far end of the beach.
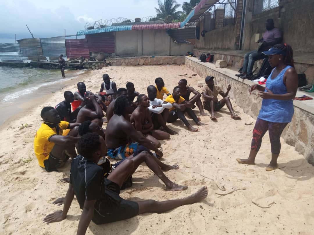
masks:
{"label": "low stone ledge along the far end of the beach", "polygon": [[184,64],[185,56],[141,56],[106,59],[111,66],[136,66],[136,65],[160,65],[160,64]]}

